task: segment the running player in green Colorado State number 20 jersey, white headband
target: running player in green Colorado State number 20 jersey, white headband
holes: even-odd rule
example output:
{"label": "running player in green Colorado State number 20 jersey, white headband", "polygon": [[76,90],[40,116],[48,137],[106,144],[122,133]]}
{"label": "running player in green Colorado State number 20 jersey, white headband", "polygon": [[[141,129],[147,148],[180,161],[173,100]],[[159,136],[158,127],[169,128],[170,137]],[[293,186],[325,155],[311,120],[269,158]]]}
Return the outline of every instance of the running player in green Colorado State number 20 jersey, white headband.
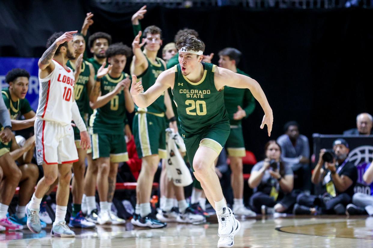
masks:
{"label": "running player in green Colorado State number 20 jersey, white headband", "polygon": [[201,63],[205,45],[191,35],[184,35],[176,43],[179,64],[164,71],[156,83],[144,90],[141,81],[132,75],[131,94],[138,107],[152,104],[167,88],[172,88],[178,108],[181,133],[194,175],[216,210],[219,221],[218,247],[231,247],[240,228],[232,210],[226,205],[214,161],[225,145],[230,132],[228,113],[224,106],[224,86],[248,88],[264,110],[260,128],[272,131],[273,113],[257,81],[231,70],[209,63]]}

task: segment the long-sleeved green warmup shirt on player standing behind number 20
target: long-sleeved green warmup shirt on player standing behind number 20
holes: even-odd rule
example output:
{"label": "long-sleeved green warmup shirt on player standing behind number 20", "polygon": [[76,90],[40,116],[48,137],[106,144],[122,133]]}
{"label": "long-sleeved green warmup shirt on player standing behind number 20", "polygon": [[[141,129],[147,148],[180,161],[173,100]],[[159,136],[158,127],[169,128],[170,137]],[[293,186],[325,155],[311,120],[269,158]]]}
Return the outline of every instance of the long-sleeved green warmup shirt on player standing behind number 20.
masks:
{"label": "long-sleeved green warmup shirt on player standing behind number 20", "polygon": [[[245,76],[249,76],[243,71],[237,69],[238,74],[242,74]],[[227,109],[229,122],[231,125],[240,125],[241,120],[234,120],[233,114],[238,111],[237,106],[241,106],[243,110],[246,112],[247,118],[251,113],[253,113],[255,109],[255,98],[251,94],[249,89],[239,89],[233,88],[229,86],[225,86],[224,88],[224,102],[225,108]]]}

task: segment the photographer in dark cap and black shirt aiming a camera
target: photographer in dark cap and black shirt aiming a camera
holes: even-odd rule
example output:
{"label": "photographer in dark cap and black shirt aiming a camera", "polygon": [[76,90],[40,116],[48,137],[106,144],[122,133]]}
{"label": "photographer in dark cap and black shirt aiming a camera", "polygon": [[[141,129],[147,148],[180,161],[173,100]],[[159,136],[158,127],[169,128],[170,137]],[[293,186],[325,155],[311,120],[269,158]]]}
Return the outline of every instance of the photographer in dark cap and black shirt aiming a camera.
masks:
{"label": "photographer in dark cap and black shirt aiming a camera", "polygon": [[312,183],[322,183],[323,194],[313,196],[300,194],[294,214],[338,214],[346,212],[351,202],[357,181],[357,169],[348,161],[348,143],[344,139],[333,142],[333,150],[322,149],[319,162],[312,173]]}

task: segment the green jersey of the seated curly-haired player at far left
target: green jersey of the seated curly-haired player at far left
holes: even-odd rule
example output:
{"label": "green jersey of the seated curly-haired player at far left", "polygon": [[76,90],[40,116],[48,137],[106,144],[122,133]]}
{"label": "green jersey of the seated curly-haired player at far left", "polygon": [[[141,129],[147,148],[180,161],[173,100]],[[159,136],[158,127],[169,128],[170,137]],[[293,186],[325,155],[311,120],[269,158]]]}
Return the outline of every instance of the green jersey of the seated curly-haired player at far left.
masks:
{"label": "green jersey of the seated curly-haired player at far left", "polygon": [[[18,99],[16,102],[13,102],[12,98],[10,97],[9,88],[2,90],[1,93],[3,95],[5,106],[9,110],[10,119],[16,120],[19,118],[19,116],[32,111],[30,103],[28,102],[26,98]],[[1,124],[0,124],[0,127],[2,130],[3,126]]]}

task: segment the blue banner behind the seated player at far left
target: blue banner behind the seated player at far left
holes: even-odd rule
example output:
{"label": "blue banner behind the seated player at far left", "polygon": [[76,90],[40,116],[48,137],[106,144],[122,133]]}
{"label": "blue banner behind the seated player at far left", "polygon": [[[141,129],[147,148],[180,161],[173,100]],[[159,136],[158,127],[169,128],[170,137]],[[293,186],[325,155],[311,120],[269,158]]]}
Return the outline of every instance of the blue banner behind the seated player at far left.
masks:
{"label": "blue banner behind the seated player at far left", "polygon": [[30,102],[31,108],[36,112],[39,100],[39,80],[38,80],[39,58],[6,58],[0,57],[0,83],[1,88],[9,85],[5,82],[5,75],[13,68],[22,68],[30,73],[28,93],[26,99]]}

